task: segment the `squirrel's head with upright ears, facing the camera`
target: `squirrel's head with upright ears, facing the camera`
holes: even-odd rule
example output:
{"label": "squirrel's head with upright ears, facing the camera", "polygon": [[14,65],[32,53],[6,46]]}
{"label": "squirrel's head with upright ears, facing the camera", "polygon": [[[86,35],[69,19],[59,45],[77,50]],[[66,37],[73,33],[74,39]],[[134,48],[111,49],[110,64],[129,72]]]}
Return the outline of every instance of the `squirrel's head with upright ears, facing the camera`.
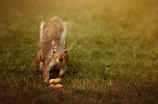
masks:
{"label": "squirrel's head with upright ears, facing the camera", "polygon": [[66,42],[64,41],[63,45],[56,45],[55,42],[52,42],[53,48],[53,57],[57,62],[67,62],[68,61],[68,53],[66,50]]}

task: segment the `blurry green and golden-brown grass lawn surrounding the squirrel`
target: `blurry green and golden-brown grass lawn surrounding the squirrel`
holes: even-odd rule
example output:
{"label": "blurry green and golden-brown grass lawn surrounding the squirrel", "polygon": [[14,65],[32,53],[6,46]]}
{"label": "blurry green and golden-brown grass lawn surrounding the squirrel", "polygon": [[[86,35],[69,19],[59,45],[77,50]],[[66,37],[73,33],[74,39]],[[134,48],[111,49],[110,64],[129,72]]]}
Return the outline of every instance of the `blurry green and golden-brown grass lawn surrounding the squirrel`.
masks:
{"label": "blurry green and golden-brown grass lawn surrounding the squirrel", "polygon": [[[156,104],[157,4],[0,1],[0,103]],[[52,16],[68,26],[70,58],[62,89],[48,88],[35,63],[39,24]]]}

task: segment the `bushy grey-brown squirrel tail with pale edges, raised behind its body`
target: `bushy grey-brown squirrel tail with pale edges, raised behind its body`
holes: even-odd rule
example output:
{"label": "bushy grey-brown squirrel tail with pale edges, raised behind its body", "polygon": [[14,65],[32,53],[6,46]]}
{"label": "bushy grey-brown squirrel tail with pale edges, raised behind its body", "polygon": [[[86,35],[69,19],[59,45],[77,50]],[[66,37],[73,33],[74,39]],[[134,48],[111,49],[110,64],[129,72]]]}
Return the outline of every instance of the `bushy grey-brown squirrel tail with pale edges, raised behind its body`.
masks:
{"label": "bushy grey-brown squirrel tail with pale edges, raised behind its body", "polygon": [[62,43],[66,37],[66,23],[58,17],[52,17],[47,22],[41,22],[40,25],[40,42],[55,41]]}

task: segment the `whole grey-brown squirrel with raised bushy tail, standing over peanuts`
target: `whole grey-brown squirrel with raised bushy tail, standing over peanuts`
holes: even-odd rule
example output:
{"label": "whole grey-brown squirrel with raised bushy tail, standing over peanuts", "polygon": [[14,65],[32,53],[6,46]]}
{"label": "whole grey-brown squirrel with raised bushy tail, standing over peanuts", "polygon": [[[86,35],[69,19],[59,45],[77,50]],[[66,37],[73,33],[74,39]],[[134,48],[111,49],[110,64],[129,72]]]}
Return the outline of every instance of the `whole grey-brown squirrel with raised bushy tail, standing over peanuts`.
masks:
{"label": "whole grey-brown squirrel with raised bushy tail, standing over peanuts", "polygon": [[43,73],[44,82],[49,81],[50,71],[59,70],[59,77],[62,77],[67,70],[68,53],[66,49],[66,25],[58,17],[52,17],[40,25],[40,45],[37,52],[37,67]]}

